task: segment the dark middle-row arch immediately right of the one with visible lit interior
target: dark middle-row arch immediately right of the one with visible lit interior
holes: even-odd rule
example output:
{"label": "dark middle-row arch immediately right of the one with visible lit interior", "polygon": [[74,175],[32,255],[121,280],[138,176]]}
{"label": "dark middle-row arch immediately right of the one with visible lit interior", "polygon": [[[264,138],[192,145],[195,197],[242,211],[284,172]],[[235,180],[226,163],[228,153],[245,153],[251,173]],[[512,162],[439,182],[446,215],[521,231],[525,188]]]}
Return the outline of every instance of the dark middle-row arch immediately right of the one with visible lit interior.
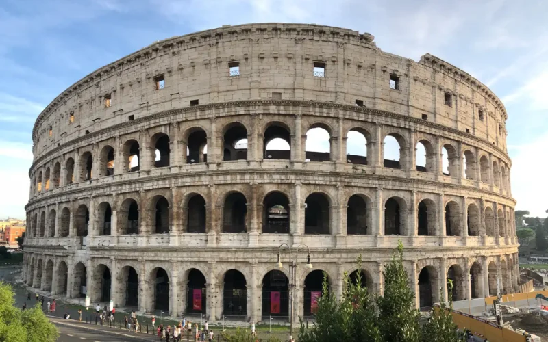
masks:
{"label": "dark middle-row arch immediately right of the one with visible lit interior", "polygon": [[308,195],[304,205],[304,233],[329,234],[329,199],[325,194]]}

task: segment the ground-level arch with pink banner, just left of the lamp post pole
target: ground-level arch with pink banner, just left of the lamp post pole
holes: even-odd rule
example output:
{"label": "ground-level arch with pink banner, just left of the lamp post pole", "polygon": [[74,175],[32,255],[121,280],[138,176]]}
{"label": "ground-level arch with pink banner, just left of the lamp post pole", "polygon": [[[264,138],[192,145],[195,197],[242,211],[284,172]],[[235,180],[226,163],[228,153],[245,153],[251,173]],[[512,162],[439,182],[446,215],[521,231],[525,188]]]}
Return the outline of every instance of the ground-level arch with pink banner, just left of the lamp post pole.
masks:
{"label": "ground-level arch with pink banner, just left of the lamp post pole", "polygon": [[262,317],[288,316],[288,284],[286,274],[277,269],[270,271],[262,278]]}

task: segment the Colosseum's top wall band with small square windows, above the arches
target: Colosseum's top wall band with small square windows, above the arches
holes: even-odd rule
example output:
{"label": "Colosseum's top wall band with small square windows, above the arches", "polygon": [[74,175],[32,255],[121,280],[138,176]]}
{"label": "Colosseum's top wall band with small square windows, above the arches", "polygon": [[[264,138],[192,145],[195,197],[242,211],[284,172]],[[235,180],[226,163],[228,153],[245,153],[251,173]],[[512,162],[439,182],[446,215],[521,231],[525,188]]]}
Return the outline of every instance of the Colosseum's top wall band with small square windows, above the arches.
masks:
{"label": "Colosseum's top wall band with small square windows, above the arches", "polygon": [[[237,62],[237,74],[230,62]],[[373,36],[349,29],[265,23],[162,40],[77,81],[38,116],[34,159],[92,131],[190,101],[258,98],[360,103],[466,131],[506,151],[501,101],[455,66],[432,55],[414,62],[384,53]]]}

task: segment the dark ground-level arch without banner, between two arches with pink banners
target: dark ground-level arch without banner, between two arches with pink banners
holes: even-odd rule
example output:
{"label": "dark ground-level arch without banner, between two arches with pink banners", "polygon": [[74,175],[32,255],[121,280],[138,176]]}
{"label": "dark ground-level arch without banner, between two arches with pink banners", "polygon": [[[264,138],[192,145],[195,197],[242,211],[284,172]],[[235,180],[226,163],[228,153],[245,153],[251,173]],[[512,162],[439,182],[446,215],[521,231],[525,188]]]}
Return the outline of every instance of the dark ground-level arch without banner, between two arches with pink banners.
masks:
{"label": "dark ground-level arch without banner, between two arches with pink banners", "polygon": [[236,269],[225,273],[223,286],[223,315],[247,316],[245,276]]}

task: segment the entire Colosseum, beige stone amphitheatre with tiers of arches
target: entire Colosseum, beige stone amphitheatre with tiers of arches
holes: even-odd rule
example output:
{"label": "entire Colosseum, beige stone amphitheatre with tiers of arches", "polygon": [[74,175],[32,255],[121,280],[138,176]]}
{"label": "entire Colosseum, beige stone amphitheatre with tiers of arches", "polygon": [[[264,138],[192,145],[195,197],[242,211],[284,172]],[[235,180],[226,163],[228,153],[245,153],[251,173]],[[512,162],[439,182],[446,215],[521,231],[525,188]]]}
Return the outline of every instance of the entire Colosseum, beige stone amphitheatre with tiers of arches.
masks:
{"label": "entire Colosseum, beige stone amphitheatre with tiers of arches", "polygon": [[383,293],[401,240],[417,307],[508,293],[507,118],[463,70],[349,29],[225,25],[155,42],[38,116],[23,279],[210,320],[285,319],[292,289],[308,317],[323,272],[340,296],[360,254]]}

